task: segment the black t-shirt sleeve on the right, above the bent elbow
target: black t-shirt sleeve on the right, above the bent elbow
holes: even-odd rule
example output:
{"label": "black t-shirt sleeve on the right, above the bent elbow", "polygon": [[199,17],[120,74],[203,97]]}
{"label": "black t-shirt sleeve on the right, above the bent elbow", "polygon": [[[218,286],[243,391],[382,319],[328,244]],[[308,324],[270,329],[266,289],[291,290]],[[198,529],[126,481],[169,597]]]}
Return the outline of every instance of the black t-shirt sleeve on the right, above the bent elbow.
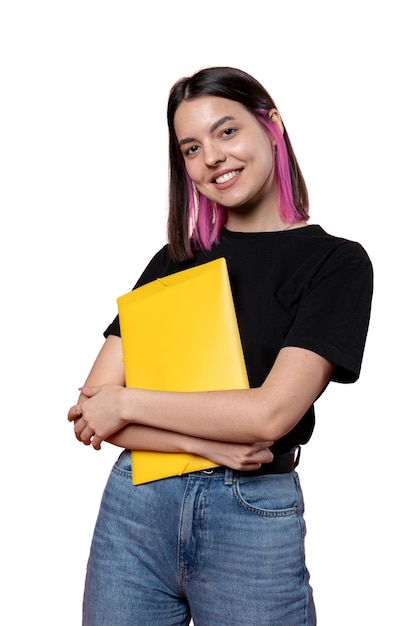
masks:
{"label": "black t-shirt sleeve on the right, above the bent elbow", "polygon": [[312,350],[336,365],[332,380],[355,382],[361,370],[373,292],[371,261],[346,241],[306,286],[283,347]]}

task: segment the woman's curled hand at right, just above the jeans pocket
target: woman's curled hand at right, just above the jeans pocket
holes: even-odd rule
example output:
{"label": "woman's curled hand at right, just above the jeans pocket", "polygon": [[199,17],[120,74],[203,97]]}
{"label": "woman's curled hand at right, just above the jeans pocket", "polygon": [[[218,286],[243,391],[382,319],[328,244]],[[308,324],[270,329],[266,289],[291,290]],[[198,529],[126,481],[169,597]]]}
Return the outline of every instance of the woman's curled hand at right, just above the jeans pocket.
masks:
{"label": "woman's curled hand at right, just above the jeans pocket", "polygon": [[197,454],[234,470],[257,470],[264,463],[271,463],[274,459],[274,455],[269,450],[273,441],[259,441],[253,444],[208,440],[200,440],[200,442],[202,449]]}

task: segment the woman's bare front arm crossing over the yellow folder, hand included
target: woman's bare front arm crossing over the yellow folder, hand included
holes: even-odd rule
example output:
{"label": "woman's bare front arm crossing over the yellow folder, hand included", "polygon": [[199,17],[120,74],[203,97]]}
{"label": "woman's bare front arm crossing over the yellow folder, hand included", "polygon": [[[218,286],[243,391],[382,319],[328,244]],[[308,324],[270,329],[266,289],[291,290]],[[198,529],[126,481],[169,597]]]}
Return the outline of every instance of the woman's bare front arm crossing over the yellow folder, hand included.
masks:
{"label": "woman's bare front arm crossing over the yellow folder, hand included", "polygon": [[261,387],[211,392],[159,392],[105,384],[83,388],[75,427],[93,446],[127,424],[203,439],[252,444],[276,441],[302,418],[327,385],[334,365],[303,348],[283,348]]}

